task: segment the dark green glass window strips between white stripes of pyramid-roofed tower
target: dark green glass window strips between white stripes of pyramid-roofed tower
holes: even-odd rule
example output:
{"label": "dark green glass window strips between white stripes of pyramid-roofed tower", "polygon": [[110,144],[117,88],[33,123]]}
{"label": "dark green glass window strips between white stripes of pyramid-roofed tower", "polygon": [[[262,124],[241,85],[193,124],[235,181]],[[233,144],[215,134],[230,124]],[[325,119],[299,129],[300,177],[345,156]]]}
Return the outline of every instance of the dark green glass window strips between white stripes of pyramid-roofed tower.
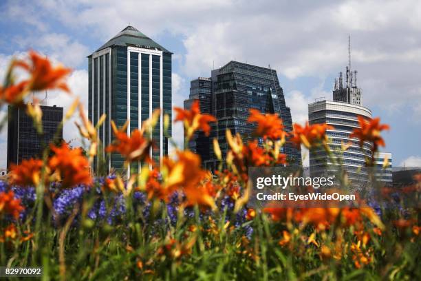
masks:
{"label": "dark green glass window strips between white stripes of pyramid-roofed tower", "polygon": [[[101,114],[104,111],[104,107],[98,106],[98,90],[100,91],[99,98],[100,100],[104,100],[109,98],[109,95],[106,93],[109,92],[109,85],[107,83],[106,88],[102,87],[104,79],[109,81],[111,78],[109,75],[109,67],[105,68],[105,73],[103,67],[109,65],[109,57],[107,54],[106,61],[102,61],[102,56],[100,56],[100,61],[98,62],[98,58],[90,59],[90,68],[89,68],[89,110],[92,108],[92,103],[94,103],[94,112],[89,114],[90,117],[94,117],[95,121],[97,121],[98,114]],[[112,61],[111,63],[114,66],[113,72],[113,83],[112,83],[112,91],[113,91],[113,101],[111,105],[113,107],[112,116],[107,117],[107,121],[109,122],[109,118],[114,118],[116,120],[117,125],[122,125],[127,118],[127,48],[120,48],[116,47],[113,48],[112,52]],[[139,61],[141,59],[141,68],[138,67]],[[150,59],[152,60],[151,63],[149,62]],[[160,77],[160,64],[161,64],[160,56],[149,55],[149,54],[141,54],[139,57],[138,53],[131,52],[130,53],[130,103],[131,105],[137,105],[139,103],[138,98],[140,98],[138,91],[140,90],[141,97],[142,97],[142,112],[138,112],[137,106],[131,106],[131,129],[133,126],[138,123],[138,114],[142,116],[142,120],[149,118],[149,92],[150,87],[152,87],[152,101],[151,104],[153,107],[160,107],[160,80],[164,82],[162,85],[162,94],[163,98],[166,101],[163,104],[164,111],[166,113],[171,114],[171,54],[164,54],[162,56],[162,78]],[[151,65],[151,72],[152,76],[149,76],[149,66]],[[96,73],[98,66],[100,67],[100,77]],[[92,76],[92,68],[94,68],[95,75]],[[139,70],[141,70],[141,75],[139,77]],[[104,76],[105,74],[105,76]],[[152,80],[152,84],[149,85],[149,79]],[[94,80],[94,83],[92,83]],[[141,80],[141,81],[139,81]],[[138,85],[141,83],[142,88],[139,89]],[[92,84],[94,84],[95,89],[92,89]],[[95,94],[95,96],[94,96]],[[94,100],[94,101],[93,101]],[[107,101],[105,106],[105,112],[109,111],[108,108],[109,101]],[[107,122],[107,123],[108,123]],[[119,124],[120,123],[120,124]],[[158,124],[159,126],[159,124]],[[108,130],[108,126],[105,126],[105,130]],[[102,135],[102,132],[101,132]],[[105,132],[107,135],[107,131]],[[155,135],[159,136],[159,131],[155,132]],[[158,141],[159,145],[159,141]],[[167,149],[167,143],[164,143],[164,149]],[[159,154],[157,154],[159,155]],[[113,158],[113,162],[120,162],[118,157]]]}

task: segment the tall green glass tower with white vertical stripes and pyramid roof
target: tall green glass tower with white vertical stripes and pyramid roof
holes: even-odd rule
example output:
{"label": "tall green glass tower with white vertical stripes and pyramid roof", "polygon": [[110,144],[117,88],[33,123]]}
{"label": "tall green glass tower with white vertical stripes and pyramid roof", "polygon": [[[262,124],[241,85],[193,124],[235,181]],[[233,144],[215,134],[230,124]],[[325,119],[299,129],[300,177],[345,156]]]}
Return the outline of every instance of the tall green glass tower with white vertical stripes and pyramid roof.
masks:
{"label": "tall green glass tower with white vertical stripes and pyramid roof", "polygon": [[[169,114],[171,120],[171,55],[169,50],[129,25],[88,56],[89,118],[96,124],[102,114],[107,114],[98,132],[105,146],[114,138],[111,120],[118,127],[128,120],[127,134],[130,134],[141,127],[153,110],[161,109],[153,132],[156,149],[150,153],[157,162],[168,153],[162,117]],[[109,169],[123,167],[118,154],[112,154],[107,162]],[[137,168],[138,163],[133,167]]]}

